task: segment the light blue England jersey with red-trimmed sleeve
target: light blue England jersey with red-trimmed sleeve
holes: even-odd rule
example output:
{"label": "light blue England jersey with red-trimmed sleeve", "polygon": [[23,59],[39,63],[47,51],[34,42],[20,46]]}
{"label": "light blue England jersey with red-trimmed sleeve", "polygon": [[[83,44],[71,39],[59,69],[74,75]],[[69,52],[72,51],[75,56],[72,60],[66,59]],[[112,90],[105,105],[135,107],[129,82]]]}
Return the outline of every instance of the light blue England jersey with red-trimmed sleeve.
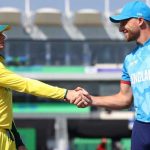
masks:
{"label": "light blue England jersey with red-trimmed sleeve", "polygon": [[150,122],[150,40],[126,56],[121,82],[131,84],[136,119]]}

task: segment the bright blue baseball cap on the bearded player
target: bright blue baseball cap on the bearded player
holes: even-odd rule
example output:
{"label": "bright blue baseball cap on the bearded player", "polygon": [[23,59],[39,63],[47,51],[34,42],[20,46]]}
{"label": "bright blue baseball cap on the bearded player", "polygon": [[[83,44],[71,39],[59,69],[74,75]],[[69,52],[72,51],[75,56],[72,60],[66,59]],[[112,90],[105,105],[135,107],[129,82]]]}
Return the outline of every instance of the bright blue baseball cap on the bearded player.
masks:
{"label": "bright blue baseball cap on the bearded player", "polygon": [[130,18],[143,18],[150,21],[150,8],[144,2],[134,0],[127,3],[119,15],[111,16],[110,21],[119,23],[122,20]]}

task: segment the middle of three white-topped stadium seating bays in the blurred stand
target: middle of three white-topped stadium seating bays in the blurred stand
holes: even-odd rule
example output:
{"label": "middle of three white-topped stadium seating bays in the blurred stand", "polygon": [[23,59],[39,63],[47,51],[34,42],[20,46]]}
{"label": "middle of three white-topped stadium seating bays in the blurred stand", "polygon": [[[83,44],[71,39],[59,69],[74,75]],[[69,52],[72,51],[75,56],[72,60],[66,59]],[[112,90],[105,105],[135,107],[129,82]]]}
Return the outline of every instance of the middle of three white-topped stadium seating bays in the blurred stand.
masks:
{"label": "middle of three white-topped stadium seating bays in the blurred stand", "polygon": [[62,26],[61,18],[62,13],[59,10],[42,8],[35,12],[33,22],[46,39],[68,39],[69,36]]}

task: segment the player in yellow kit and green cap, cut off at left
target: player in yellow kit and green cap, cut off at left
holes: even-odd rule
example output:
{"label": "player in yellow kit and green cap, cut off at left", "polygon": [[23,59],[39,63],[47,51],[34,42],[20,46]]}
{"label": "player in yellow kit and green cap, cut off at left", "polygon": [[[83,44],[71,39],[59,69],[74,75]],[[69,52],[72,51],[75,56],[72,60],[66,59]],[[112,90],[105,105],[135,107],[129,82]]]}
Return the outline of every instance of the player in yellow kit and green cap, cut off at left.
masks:
{"label": "player in yellow kit and green cap, cut off at left", "polygon": [[[0,25],[0,50],[4,48],[4,31],[9,30],[9,25]],[[24,92],[35,96],[65,99],[82,107],[90,103],[84,96],[86,91],[67,90],[40,82],[38,80],[21,77],[9,71],[0,60],[0,150],[16,150],[14,135],[11,132],[12,90]],[[87,99],[87,101],[86,101]]]}

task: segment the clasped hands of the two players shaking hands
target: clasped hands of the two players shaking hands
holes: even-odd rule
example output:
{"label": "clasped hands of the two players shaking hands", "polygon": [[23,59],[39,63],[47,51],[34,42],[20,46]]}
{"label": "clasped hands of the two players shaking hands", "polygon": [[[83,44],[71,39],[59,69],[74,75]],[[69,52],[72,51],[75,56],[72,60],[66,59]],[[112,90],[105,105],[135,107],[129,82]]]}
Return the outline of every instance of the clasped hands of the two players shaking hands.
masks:
{"label": "clasped hands of the two players shaking hands", "polygon": [[77,105],[79,108],[92,105],[92,96],[81,87],[77,87],[74,90],[68,90],[64,100]]}

